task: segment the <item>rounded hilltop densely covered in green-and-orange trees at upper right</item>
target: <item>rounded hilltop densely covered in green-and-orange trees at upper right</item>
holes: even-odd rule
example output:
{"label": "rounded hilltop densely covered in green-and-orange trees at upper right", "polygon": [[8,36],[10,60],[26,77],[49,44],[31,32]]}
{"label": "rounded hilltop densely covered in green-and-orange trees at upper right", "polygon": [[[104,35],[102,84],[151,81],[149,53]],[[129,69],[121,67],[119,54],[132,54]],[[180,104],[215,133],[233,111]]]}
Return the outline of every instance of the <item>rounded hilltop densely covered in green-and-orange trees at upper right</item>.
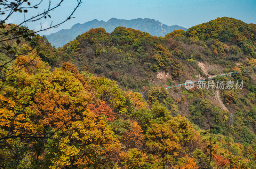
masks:
{"label": "rounded hilltop densely covered in green-and-orange trees at upper right", "polygon": [[224,43],[236,44],[246,55],[256,56],[256,25],[246,24],[235,18],[222,17],[193,26],[187,36],[199,40],[216,39]]}

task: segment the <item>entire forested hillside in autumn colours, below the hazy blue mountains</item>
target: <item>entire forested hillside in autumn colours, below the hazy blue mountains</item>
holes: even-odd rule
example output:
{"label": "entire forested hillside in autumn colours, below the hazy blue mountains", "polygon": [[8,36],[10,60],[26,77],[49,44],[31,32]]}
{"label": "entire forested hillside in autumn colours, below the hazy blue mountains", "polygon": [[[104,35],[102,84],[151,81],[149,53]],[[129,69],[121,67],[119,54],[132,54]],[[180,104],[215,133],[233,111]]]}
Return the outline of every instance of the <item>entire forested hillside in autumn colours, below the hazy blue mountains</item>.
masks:
{"label": "entire forested hillside in autumn colours, below the hazy blue mountains", "polygon": [[[91,29],[58,49],[10,41],[1,167],[256,168],[255,31],[224,17],[165,37]],[[211,81],[242,89],[164,89],[228,72]]]}

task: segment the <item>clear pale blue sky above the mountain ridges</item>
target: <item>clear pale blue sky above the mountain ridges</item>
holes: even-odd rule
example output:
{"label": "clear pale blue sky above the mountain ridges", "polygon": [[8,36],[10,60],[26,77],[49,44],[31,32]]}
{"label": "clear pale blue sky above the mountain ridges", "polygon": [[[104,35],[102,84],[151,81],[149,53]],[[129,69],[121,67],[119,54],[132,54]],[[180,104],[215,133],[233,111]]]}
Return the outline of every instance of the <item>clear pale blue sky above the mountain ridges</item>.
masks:
{"label": "clear pale blue sky above the mountain ridges", "polygon": [[[30,2],[33,4],[35,1],[38,0]],[[52,0],[52,6],[57,2],[60,0]],[[49,0],[43,0],[38,9],[28,10],[26,18],[44,11],[48,4]],[[51,23],[58,24],[68,17],[76,4],[76,0],[64,0],[61,6],[50,13],[51,18],[28,23],[27,26],[37,31],[41,24],[43,28],[50,26]],[[168,26],[179,25],[186,28],[224,16],[256,24],[255,9],[256,0],[83,0],[73,15],[75,18],[39,34],[48,35],[61,29],[70,29],[76,23],[83,24],[93,19],[107,22],[110,18],[150,18]],[[23,19],[23,14],[16,12],[7,22],[18,24]]]}

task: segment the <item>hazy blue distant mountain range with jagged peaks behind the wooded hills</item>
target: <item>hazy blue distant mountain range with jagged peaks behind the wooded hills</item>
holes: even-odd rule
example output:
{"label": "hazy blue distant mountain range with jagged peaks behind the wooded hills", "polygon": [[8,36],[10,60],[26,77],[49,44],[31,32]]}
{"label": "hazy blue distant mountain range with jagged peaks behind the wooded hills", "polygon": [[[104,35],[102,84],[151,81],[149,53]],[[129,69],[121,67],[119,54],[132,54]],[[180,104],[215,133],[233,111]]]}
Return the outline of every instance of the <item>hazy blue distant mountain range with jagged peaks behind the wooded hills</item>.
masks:
{"label": "hazy blue distant mountain range with jagged peaks behind the wooded hills", "polygon": [[116,19],[111,18],[107,22],[101,20],[98,21],[94,19],[89,22],[85,22],[84,24],[75,24],[70,29],[62,29],[56,33],[51,33],[50,35],[45,35],[52,46],[61,47],[67,44],[69,41],[74,40],[76,36],[89,31],[92,28],[102,27],[105,28],[107,32],[112,32],[117,26],[124,26],[128,28],[133,28],[136,30],[140,30],[143,32],[148,32],[152,36],[165,36],[167,33],[170,33],[174,30],[183,29],[187,31],[187,28],[174,25],[167,26],[156,21],[155,19],[148,18],[137,18],[137,19]]}

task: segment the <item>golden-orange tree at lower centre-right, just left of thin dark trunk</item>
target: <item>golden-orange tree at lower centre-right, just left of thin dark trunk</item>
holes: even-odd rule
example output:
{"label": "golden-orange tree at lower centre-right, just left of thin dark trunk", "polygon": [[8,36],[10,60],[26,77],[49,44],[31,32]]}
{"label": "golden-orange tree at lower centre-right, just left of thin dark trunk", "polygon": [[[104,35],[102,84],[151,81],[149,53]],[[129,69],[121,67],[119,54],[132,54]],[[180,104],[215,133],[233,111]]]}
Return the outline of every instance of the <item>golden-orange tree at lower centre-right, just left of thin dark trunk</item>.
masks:
{"label": "golden-orange tree at lower centre-right, just left of thin dark trunk", "polygon": [[174,163],[181,153],[182,144],[196,139],[197,132],[180,115],[162,124],[154,123],[146,133],[146,145],[151,152],[159,154],[166,164]]}

